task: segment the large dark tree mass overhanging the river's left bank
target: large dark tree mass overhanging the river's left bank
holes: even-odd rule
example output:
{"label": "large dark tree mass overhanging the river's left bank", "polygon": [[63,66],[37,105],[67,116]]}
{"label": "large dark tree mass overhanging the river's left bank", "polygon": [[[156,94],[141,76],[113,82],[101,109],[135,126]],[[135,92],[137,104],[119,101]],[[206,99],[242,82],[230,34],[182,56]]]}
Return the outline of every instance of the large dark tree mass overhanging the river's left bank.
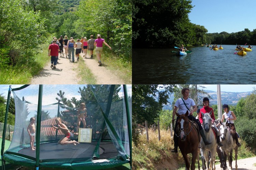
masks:
{"label": "large dark tree mass overhanging the river's left bank", "polygon": [[[191,0],[134,0],[133,47],[169,47],[192,44]],[[171,17],[170,17],[171,16]]]}

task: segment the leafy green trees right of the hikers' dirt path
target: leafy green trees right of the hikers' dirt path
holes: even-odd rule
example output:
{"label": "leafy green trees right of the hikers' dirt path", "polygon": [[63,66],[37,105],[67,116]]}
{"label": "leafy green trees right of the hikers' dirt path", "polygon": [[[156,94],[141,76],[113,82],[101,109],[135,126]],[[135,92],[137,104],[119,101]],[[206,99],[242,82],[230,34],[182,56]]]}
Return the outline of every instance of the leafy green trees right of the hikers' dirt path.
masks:
{"label": "leafy green trees right of the hikers' dirt path", "polygon": [[100,34],[118,60],[131,62],[131,0],[81,0],[76,15],[75,32],[80,37]]}

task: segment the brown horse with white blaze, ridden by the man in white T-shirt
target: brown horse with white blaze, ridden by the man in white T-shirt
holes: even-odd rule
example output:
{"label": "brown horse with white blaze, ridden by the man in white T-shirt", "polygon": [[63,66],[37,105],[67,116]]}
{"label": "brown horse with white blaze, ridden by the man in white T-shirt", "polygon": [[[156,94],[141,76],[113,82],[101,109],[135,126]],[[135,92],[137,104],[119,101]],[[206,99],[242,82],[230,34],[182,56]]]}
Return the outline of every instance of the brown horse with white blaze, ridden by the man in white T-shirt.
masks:
{"label": "brown horse with white blaze, ridden by the man in white T-shirt", "polygon": [[[188,111],[186,114],[179,115],[175,112],[178,119],[177,125],[177,136],[179,137],[178,146],[181,150],[181,154],[185,160],[186,169],[191,168],[191,170],[195,169],[195,162],[198,155],[198,144],[200,142],[199,134],[197,130],[194,128],[194,125],[187,118]],[[191,167],[189,164],[189,160],[187,157],[188,153],[192,153],[192,162]]]}

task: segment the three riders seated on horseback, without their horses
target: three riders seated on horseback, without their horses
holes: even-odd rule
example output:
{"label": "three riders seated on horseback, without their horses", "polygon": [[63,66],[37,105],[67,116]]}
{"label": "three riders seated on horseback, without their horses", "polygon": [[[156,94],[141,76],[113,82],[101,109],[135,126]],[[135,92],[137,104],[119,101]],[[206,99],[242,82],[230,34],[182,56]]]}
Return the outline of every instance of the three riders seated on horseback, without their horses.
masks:
{"label": "three riders seated on horseback, without their horses", "polygon": [[[211,114],[211,118],[212,118],[212,127],[216,129],[216,140],[217,140],[217,144],[219,147],[223,146],[223,144],[220,141],[220,133],[219,130],[217,129],[216,126],[218,126],[219,124],[221,124],[221,122],[224,121],[224,119],[226,119],[227,121],[227,125],[230,126],[230,129],[233,130],[234,132],[234,138],[236,140],[236,144],[238,147],[241,146],[241,144],[238,142],[238,134],[236,133],[236,128],[234,126],[234,120],[236,120],[236,115],[234,115],[234,113],[232,111],[229,110],[229,106],[227,104],[223,104],[223,109],[224,109],[224,114],[222,115],[222,119],[220,120],[219,124],[214,125],[214,121],[215,121],[215,116],[213,113],[213,109],[211,107],[209,107],[209,98],[205,97],[203,98],[203,107],[201,109],[197,109],[197,106],[194,102],[193,99],[188,98],[189,96],[189,89],[188,88],[183,88],[181,91],[183,97],[179,98],[174,105],[174,109],[173,109],[173,116],[172,116],[172,123],[174,124],[174,117],[175,117],[175,112],[177,112],[179,115],[185,114],[187,111],[189,112],[187,118],[191,121],[194,121],[195,123],[198,124],[199,127],[199,133],[203,139],[203,142],[205,145],[210,145],[211,142],[209,142],[204,134],[203,128],[202,128],[202,124],[203,124],[203,116],[201,113],[210,113],[212,111]],[[193,108],[193,109],[192,109]],[[192,109],[192,110],[191,110]],[[196,119],[193,116],[193,113],[197,111],[198,114],[198,119]],[[175,126],[174,126],[174,131],[176,132],[177,130],[177,122],[178,119],[176,119],[175,122]],[[178,152],[178,136],[174,135],[173,137],[174,140],[174,149],[171,152]]]}

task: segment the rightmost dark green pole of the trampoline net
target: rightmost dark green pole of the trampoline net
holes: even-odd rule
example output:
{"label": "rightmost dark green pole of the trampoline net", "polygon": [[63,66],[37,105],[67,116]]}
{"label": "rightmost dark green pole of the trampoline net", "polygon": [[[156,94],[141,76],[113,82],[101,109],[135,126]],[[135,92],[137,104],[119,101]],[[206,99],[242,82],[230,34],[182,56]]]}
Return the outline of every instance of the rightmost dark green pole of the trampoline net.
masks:
{"label": "rightmost dark green pole of the trampoline net", "polygon": [[126,108],[126,116],[127,116],[127,126],[128,126],[128,135],[129,135],[129,148],[130,148],[130,168],[131,166],[131,153],[132,153],[132,145],[131,145],[131,116],[129,111],[129,102],[128,102],[128,94],[127,94],[127,87],[126,84],[123,85],[124,87],[124,97],[125,97],[125,108]]}

